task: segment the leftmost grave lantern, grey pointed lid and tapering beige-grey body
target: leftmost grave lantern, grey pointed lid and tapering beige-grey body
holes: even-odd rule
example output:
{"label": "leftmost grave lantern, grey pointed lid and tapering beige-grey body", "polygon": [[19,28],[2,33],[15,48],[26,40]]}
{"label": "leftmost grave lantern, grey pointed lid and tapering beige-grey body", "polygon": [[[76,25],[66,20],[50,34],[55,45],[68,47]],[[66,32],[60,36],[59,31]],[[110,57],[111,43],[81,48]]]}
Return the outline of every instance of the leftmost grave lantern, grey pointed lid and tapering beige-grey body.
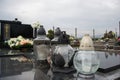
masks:
{"label": "leftmost grave lantern, grey pointed lid and tapering beige-grey body", "polygon": [[43,26],[40,26],[37,38],[34,39],[34,53],[37,60],[47,60],[47,56],[50,53],[50,40],[46,37],[46,31]]}

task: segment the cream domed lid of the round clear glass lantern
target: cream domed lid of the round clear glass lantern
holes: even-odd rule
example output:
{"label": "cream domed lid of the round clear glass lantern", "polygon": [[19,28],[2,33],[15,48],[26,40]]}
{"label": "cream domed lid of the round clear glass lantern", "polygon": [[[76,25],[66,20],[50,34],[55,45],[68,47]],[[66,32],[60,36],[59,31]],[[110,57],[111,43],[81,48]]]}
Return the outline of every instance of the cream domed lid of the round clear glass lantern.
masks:
{"label": "cream domed lid of the round clear glass lantern", "polygon": [[89,34],[85,34],[80,42],[80,50],[86,50],[86,51],[93,51],[94,45],[92,38],[89,36]]}

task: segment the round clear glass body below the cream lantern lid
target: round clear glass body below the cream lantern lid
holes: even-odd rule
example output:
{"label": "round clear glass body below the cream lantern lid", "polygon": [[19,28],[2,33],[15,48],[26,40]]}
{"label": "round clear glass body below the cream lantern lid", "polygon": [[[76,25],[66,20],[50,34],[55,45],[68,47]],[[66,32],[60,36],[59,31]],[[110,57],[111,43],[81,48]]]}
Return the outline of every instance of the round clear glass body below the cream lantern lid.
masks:
{"label": "round clear glass body below the cream lantern lid", "polygon": [[99,67],[98,56],[94,51],[79,51],[74,57],[74,66],[80,73],[95,73]]}

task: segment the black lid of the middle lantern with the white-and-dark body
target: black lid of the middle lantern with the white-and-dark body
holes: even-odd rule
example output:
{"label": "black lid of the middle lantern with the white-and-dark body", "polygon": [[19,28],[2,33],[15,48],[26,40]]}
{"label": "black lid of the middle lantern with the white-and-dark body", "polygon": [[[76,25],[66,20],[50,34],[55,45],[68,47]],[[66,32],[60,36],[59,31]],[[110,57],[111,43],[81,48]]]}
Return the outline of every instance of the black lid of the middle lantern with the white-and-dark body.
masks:
{"label": "black lid of the middle lantern with the white-and-dark body", "polygon": [[68,36],[66,35],[65,31],[61,32],[61,35],[58,38],[58,44],[70,44],[70,40],[69,40]]}

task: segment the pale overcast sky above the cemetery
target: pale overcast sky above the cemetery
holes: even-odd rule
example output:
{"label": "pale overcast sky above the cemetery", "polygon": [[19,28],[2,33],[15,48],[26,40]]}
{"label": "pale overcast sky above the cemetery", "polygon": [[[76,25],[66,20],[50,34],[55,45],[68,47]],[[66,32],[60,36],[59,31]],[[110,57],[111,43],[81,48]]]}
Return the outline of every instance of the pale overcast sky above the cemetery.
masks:
{"label": "pale overcast sky above the cemetery", "polygon": [[18,18],[23,24],[39,21],[46,30],[60,27],[74,35],[117,31],[120,0],[0,0],[0,19]]}

